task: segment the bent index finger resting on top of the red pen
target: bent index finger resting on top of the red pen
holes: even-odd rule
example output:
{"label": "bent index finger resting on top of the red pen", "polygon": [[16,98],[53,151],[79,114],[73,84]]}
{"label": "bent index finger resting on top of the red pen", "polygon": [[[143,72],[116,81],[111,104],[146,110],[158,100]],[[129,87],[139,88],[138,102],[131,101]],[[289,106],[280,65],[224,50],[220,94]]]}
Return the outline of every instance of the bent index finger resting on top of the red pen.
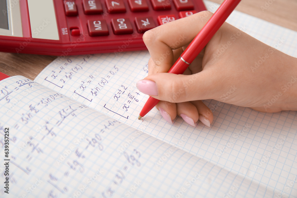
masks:
{"label": "bent index finger resting on top of the red pen", "polygon": [[143,41],[155,66],[164,69],[162,72],[167,72],[174,63],[173,50],[188,45],[211,15],[211,12],[203,11],[146,31],[143,34]]}

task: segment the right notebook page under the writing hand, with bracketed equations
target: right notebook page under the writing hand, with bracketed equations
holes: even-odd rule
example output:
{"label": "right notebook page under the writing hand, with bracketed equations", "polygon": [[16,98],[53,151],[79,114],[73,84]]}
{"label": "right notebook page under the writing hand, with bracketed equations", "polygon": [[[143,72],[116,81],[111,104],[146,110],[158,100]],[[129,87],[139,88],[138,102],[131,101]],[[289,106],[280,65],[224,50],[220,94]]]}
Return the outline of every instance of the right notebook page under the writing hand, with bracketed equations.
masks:
{"label": "right notebook page under the writing hand, with bracketed equations", "polygon": [[[206,6],[212,12],[218,7],[208,1]],[[237,11],[227,22],[297,57],[295,31]],[[202,123],[193,128],[179,117],[173,125],[168,124],[156,109],[139,121],[147,96],[139,93],[135,83],[147,75],[149,53],[121,53],[121,47],[110,54],[62,55],[35,80],[163,142],[276,190],[279,196],[297,194],[295,111],[261,113],[206,100],[214,113],[210,128]]]}

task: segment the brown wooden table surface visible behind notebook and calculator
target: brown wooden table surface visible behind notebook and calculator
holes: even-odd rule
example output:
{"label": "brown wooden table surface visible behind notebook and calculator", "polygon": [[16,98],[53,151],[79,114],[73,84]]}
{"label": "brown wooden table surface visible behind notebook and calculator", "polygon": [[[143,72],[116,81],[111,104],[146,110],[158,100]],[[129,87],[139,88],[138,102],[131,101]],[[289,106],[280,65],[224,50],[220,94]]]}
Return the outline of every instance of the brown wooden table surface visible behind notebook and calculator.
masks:
{"label": "brown wooden table surface visible behind notebook and calculator", "polygon": [[[223,2],[211,1],[219,4]],[[236,10],[297,31],[296,0],[242,0]],[[34,80],[55,58],[56,56],[0,52],[0,71],[10,76],[23,75]]]}

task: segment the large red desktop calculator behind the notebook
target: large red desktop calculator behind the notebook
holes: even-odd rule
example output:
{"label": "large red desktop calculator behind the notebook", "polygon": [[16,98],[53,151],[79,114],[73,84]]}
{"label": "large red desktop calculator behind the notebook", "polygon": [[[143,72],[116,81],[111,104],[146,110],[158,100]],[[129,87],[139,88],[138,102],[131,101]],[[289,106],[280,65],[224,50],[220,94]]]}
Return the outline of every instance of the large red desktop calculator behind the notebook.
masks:
{"label": "large red desktop calculator behind the notebook", "polygon": [[206,10],[202,0],[0,2],[0,51],[56,56],[145,50],[145,31]]}

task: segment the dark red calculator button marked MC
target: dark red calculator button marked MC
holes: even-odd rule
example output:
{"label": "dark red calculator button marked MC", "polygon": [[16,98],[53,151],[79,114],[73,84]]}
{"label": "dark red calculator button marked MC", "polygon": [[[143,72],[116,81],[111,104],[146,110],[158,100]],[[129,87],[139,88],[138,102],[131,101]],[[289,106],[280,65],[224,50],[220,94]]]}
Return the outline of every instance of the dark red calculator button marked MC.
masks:
{"label": "dark red calculator button marked MC", "polygon": [[109,34],[106,20],[88,20],[88,29],[91,37]]}

